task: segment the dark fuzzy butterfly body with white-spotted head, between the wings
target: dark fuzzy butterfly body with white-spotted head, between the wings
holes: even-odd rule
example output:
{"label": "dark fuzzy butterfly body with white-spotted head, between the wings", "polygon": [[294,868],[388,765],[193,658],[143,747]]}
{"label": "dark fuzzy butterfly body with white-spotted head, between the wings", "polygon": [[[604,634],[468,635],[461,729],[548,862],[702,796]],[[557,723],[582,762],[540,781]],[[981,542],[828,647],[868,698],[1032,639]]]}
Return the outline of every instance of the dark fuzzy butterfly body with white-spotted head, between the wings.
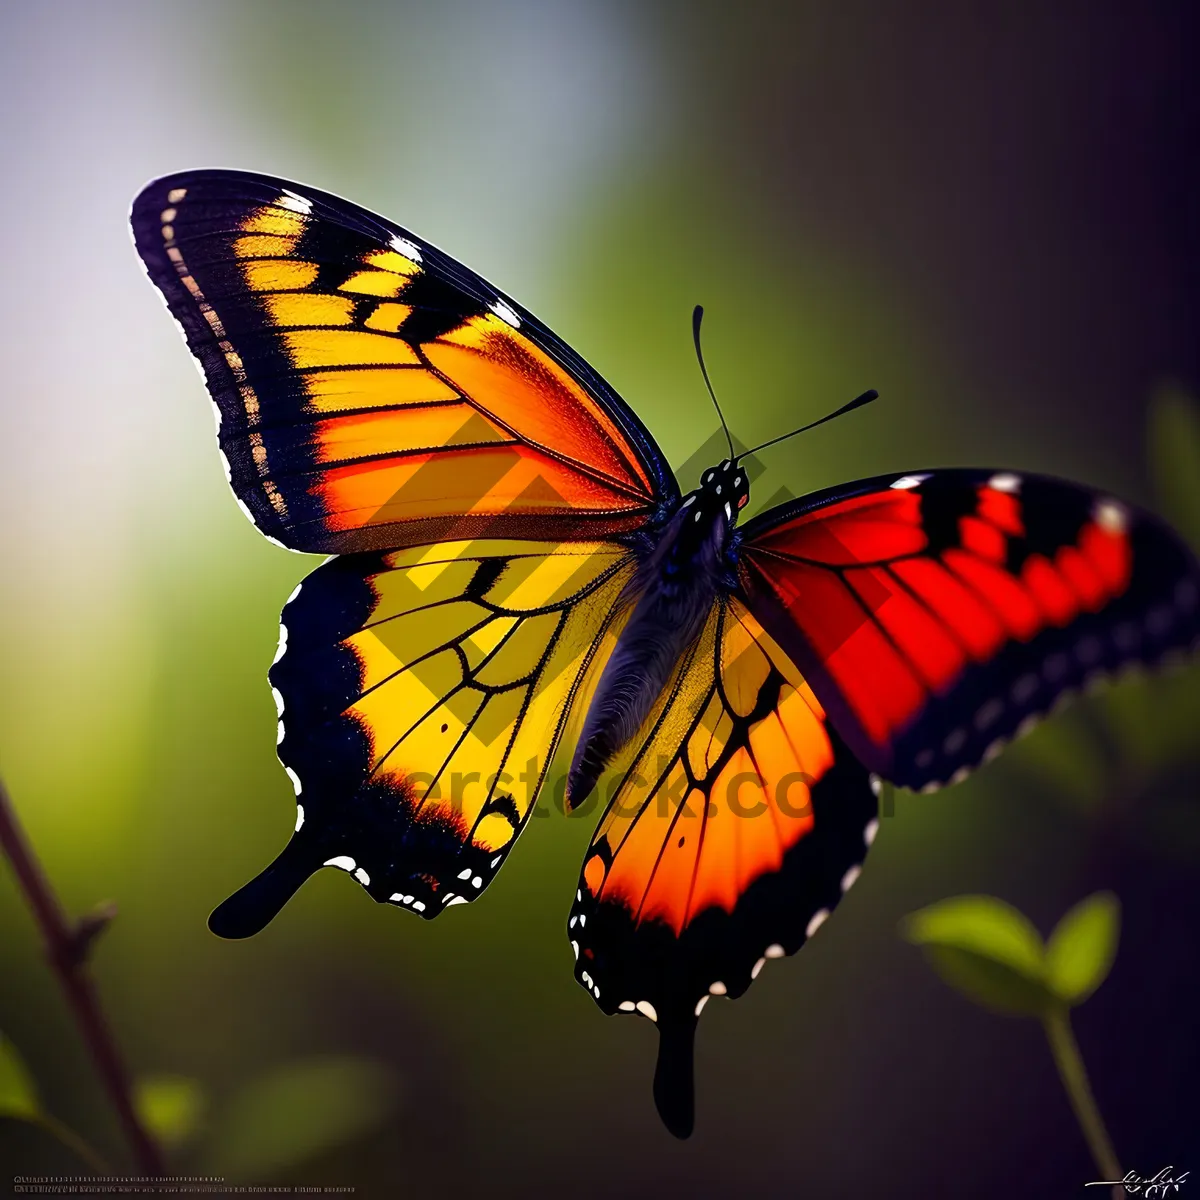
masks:
{"label": "dark fuzzy butterfly body with white-spotted head, between the wings", "polygon": [[637,733],[695,642],[718,593],[731,587],[733,528],[750,498],[737,461],[704,472],[623,592],[632,611],[605,665],[575,748],[568,797],[581,804]]}

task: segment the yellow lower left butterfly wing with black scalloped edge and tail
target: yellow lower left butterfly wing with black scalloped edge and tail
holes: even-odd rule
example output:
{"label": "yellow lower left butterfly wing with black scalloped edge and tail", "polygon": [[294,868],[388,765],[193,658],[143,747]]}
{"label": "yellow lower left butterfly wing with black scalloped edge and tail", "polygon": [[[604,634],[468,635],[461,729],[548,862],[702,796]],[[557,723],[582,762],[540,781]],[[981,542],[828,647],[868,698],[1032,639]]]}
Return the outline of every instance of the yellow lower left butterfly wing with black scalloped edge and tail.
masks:
{"label": "yellow lower left butterfly wing with black scalloped edge and tail", "polygon": [[214,932],[260,930],[322,866],[432,919],[524,828],[634,569],[613,542],[334,558],[283,610],[270,678],[296,827]]}

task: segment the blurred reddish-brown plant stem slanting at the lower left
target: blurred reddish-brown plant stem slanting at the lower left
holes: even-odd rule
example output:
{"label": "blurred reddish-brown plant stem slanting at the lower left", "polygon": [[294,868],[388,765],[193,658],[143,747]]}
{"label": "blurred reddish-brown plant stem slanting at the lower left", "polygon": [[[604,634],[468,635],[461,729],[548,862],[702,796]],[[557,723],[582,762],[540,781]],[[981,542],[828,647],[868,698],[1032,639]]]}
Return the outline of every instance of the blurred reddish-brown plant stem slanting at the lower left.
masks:
{"label": "blurred reddish-brown plant stem slanting at the lower left", "polygon": [[133,1108],[128,1074],[101,1012],[91,973],[79,953],[76,930],[34,854],[2,780],[0,780],[0,850],[8,856],[25,901],[41,929],[46,956],[50,960],[50,966],[71,1006],[79,1033],[91,1051],[96,1072],[133,1150],[138,1170],[143,1175],[162,1175],[162,1154]]}

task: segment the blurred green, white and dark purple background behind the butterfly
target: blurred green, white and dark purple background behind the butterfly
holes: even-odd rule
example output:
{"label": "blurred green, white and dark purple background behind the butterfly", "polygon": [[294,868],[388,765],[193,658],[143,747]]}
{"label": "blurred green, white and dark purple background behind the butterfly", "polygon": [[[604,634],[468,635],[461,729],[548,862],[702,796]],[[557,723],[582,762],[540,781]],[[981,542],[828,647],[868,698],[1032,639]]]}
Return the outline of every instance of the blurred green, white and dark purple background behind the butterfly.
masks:
{"label": "blurred green, white and dark purple background behind the butterfly", "polygon": [[[1100,1108],[1123,1164],[1200,1170],[1194,667],[900,794],[827,931],[709,1006],[685,1144],[653,1109],[655,1031],[571,978],[584,822],[533,822],[436,924],[326,871],[251,942],[209,935],[293,824],[265,671],[316,559],[234,505],[126,232],[155,175],[296,179],[517,296],[672,462],[713,432],[696,302],[746,443],[880,389],[768,451],[758,502],[1003,466],[1196,533],[1196,44],[1182,0],[5,7],[0,772],[64,901],[120,906],[95,970],[133,1070],[203,1094],[181,1172],[372,1196],[1084,1195],[1038,1026],[952,992],[896,923],[986,892],[1048,931],[1100,887],[1124,906],[1076,1014]],[[4,866],[0,954],[0,1031],[47,1108],[126,1163]],[[0,1177],[77,1166],[0,1120]]]}

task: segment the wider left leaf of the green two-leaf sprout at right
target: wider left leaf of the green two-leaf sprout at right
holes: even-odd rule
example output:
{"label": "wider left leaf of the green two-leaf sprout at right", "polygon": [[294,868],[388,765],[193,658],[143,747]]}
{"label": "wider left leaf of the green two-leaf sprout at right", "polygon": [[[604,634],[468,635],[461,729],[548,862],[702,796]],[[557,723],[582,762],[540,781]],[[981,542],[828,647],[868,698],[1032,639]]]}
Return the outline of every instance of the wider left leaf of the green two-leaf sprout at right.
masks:
{"label": "wider left leaf of the green two-leaf sprout at right", "polygon": [[965,996],[997,1013],[1038,1016],[1055,1002],[1038,931],[995,896],[953,896],[907,917],[901,932]]}

